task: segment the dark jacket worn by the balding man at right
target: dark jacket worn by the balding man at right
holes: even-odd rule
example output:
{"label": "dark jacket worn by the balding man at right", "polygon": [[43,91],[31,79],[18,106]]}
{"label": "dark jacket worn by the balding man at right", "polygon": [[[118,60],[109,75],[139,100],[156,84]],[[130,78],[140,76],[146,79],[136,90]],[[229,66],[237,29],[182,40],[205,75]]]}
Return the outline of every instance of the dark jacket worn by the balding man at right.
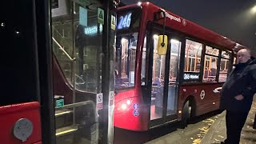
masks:
{"label": "dark jacket worn by the balding man at right", "polygon": [[[235,64],[234,67],[222,86],[220,110],[246,113],[256,92],[255,60]],[[241,101],[234,98],[238,94],[244,97]]]}

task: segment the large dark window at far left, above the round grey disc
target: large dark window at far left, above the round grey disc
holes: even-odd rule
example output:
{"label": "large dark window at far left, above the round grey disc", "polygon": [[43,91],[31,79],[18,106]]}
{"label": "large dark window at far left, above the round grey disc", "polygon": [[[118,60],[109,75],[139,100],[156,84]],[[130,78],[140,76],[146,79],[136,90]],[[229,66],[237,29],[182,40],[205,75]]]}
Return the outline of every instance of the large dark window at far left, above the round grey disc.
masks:
{"label": "large dark window at far left, above the round grey disc", "polygon": [[39,95],[33,2],[16,4],[8,9],[2,9],[10,11],[6,14],[1,13],[0,18],[0,46],[3,50],[0,106],[38,101]]}

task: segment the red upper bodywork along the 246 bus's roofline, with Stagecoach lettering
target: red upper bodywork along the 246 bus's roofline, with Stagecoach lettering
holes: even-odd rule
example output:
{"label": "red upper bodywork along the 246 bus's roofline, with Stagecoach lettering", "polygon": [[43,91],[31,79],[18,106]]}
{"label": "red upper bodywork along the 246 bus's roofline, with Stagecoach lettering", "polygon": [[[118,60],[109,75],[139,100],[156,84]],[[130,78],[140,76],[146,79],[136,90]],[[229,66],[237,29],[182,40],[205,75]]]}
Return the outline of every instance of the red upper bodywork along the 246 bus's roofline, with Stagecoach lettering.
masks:
{"label": "red upper bodywork along the 246 bus's roofline, with Stagecoach lettering", "polygon": [[[136,6],[138,7],[138,5],[136,4],[130,5],[130,6],[123,6],[118,10],[130,9]],[[144,31],[146,30],[146,23],[148,21],[152,22],[154,20],[154,12],[158,11],[161,7],[155,6],[150,2],[142,2],[141,6],[142,6],[142,23],[141,23],[140,30]],[[246,46],[242,46],[239,44],[237,45],[236,42],[230,40],[229,38],[225,38],[224,36],[217,34],[212,30],[208,30],[202,26],[198,26],[194,22],[190,22],[189,20],[186,20],[185,18],[182,18],[177,14],[173,14],[167,10],[166,12],[168,12],[168,14],[171,14],[181,19],[181,22],[177,22],[174,20],[170,20],[170,18],[166,18],[166,27],[170,27],[174,30],[178,30],[186,35],[191,35],[193,37],[200,38],[206,42],[217,44],[218,46],[225,47],[228,50],[232,50],[234,48],[238,48],[238,49],[246,48]],[[186,21],[186,25],[182,24],[183,21]],[[162,24],[163,22],[162,20],[160,20],[158,21],[158,23]]]}

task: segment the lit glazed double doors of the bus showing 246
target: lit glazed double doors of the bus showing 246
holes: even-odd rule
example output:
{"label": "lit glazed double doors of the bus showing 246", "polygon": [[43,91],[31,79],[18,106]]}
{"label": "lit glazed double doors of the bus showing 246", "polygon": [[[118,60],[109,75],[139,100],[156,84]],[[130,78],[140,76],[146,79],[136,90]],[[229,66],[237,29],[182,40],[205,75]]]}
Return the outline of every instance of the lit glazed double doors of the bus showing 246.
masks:
{"label": "lit glazed double doors of the bus showing 246", "polygon": [[[178,71],[182,42],[174,34],[168,36],[166,55],[158,54],[158,36],[161,30],[152,30],[149,41],[150,127],[175,121],[178,116]],[[151,81],[151,82],[150,82]]]}

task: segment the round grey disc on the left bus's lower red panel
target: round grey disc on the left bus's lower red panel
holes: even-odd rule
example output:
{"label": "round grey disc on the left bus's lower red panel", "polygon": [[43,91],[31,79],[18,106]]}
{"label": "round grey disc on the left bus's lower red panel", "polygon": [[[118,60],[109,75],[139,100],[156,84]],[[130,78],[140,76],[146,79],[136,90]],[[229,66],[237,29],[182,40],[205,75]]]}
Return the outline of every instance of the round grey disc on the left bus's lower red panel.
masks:
{"label": "round grey disc on the left bus's lower red panel", "polygon": [[19,119],[14,125],[14,136],[22,142],[30,137],[33,132],[33,123],[27,118]]}

